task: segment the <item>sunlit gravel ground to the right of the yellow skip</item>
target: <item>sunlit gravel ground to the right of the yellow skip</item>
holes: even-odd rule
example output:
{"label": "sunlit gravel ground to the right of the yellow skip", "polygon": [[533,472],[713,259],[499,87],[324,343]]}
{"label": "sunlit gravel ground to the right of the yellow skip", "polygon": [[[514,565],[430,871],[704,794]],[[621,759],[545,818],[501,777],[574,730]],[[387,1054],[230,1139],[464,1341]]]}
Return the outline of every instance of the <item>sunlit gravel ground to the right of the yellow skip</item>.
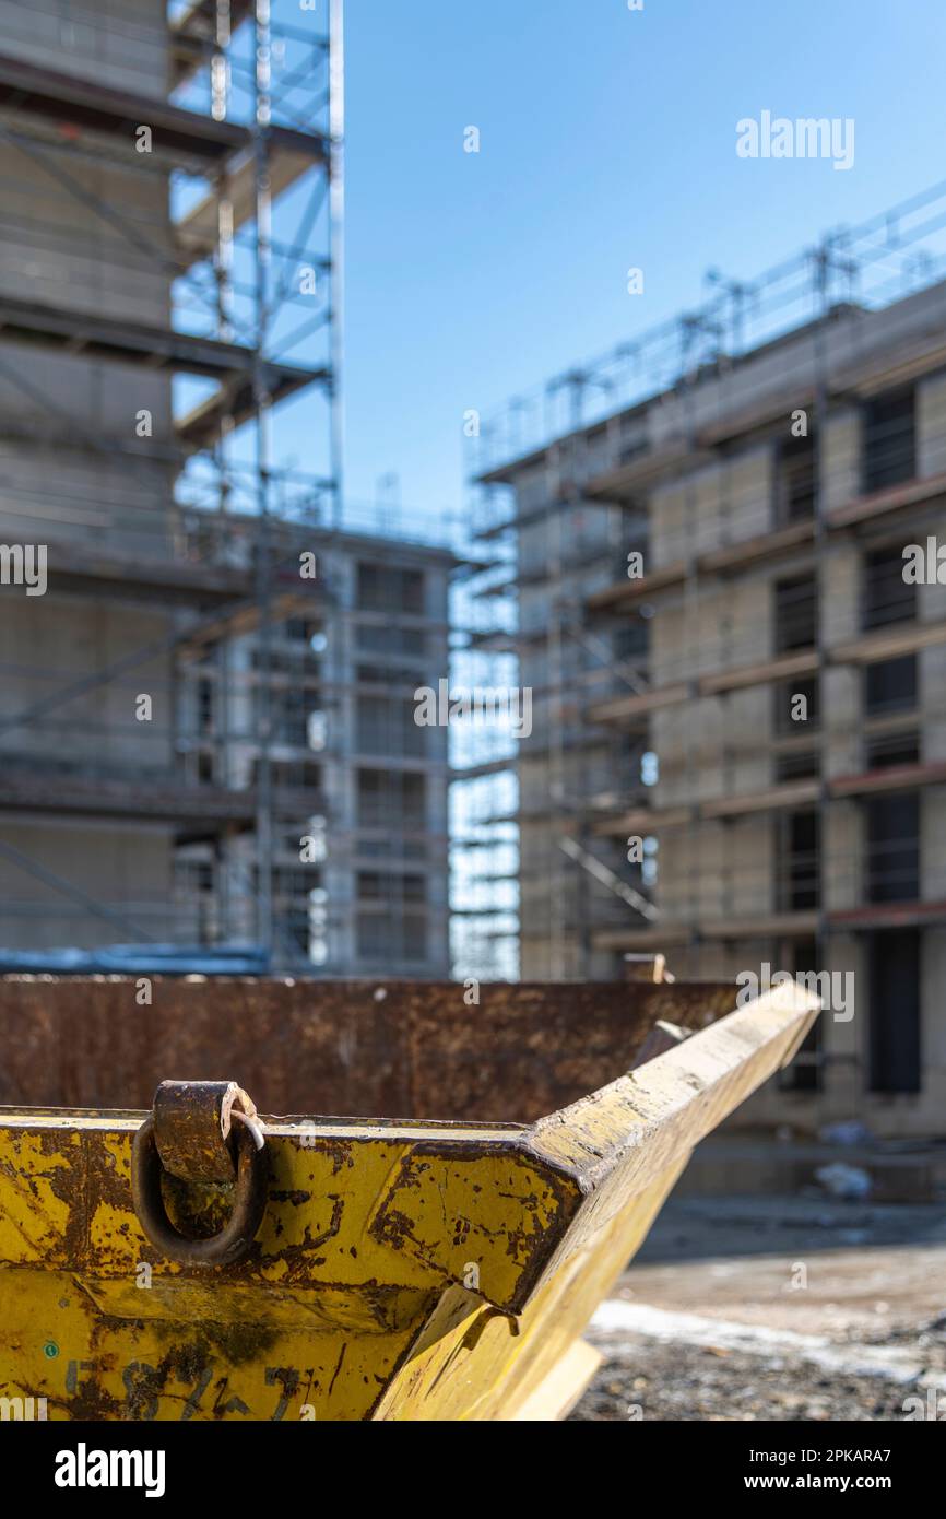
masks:
{"label": "sunlit gravel ground to the right of the yellow skip", "polygon": [[676,1197],[574,1420],[946,1419],[946,1206]]}

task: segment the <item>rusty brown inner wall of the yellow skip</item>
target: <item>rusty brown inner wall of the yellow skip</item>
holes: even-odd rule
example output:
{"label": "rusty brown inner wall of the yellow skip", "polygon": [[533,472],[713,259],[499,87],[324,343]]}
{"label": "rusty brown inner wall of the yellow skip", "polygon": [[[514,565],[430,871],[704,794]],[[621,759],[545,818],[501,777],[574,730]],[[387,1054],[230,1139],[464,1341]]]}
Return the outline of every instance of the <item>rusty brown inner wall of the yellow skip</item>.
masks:
{"label": "rusty brown inner wall of the yellow skip", "polygon": [[0,1103],[140,1109],[166,1078],[235,1074],[263,1112],[530,1123],[627,1071],[654,1019],[703,1028],[735,1006],[721,981],[478,996],[456,981],[0,977]]}

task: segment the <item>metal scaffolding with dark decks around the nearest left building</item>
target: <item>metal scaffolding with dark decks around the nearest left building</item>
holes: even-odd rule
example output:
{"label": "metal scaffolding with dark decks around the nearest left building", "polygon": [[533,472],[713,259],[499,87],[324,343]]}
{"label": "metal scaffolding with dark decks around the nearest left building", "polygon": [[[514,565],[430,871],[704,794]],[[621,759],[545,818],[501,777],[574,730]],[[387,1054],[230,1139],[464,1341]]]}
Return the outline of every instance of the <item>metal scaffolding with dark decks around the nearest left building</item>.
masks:
{"label": "metal scaffolding with dark decks around the nearest left building", "polygon": [[[178,775],[149,775],[146,767],[135,788],[100,770],[67,779],[64,767],[59,796],[47,805],[58,801],[71,810],[74,801],[97,811],[111,779],[115,816],[144,808],[179,825],[190,819],[190,834],[182,826],[179,837],[193,840],[191,854],[199,855],[208,835],[217,852],[222,838],[251,835],[252,861],[243,852],[228,863],[222,895],[232,895],[234,869],[241,869],[244,907],[252,898],[255,913],[251,922],[241,911],[232,927],[272,952],[273,840],[298,817],[299,801],[272,784],[273,629],[307,611],[325,617],[325,588],[313,592],[298,576],[293,585],[293,556],[310,527],[340,524],[342,5],[331,0],[317,17],[313,11],[308,27],[273,26],[269,0],[172,6],[167,23],[156,26],[140,12],[125,20],[94,6],[67,12],[53,0],[41,3],[24,38],[8,36],[14,55],[0,59],[0,141],[8,164],[29,166],[36,187],[30,199],[17,185],[9,202],[12,278],[0,298],[0,374],[18,396],[29,393],[29,369],[6,358],[6,345],[15,343],[114,363],[123,375],[167,375],[173,421],[162,430],[143,409],[132,439],[112,409],[109,436],[97,425],[77,427],[65,407],[50,416],[44,401],[46,436],[35,442],[102,460],[108,489],[99,489],[94,465],[67,482],[53,474],[49,485],[33,474],[11,480],[15,501],[8,507],[68,542],[68,559],[53,550],[53,562],[62,562],[55,588],[109,595],[121,582],[128,594],[134,579],[143,600],[170,602],[172,612],[162,638],[96,676],[64,685],[62,671],[59,679],[46,671],[53,694],[8,715],[5,731],[33,725],[35,734],[64,703],[93,687],[115,690],[114,682],[169,655],[167,728],[152,729],[152,737],[184,750],[185,770],[200,769],[200,726],[182,738],[181,715],[194,693],[213,693],[223,677],[214,703],[223,728],[214,734],[216,788],[207,773],[190,778],[203,784],[181,787]],[[91,88],[84,62],[73,73],[36,62],[39,49],[29,44],[46,24],[59,27],[65,53],[76,43],[82,59],[108,58],[114,49],[144,68],[153,58],[161,65],[156,77],[170,70],[172,100],[115,88],[109,70]],[[74,207],[76,225],[50,210],[52,197]],[[50,299],[64,260],[67,302]],[[108,292],[100,289],[103,270],[111,275]],[[167,292],[167,322],[135,317],[140,287]],[[146,301],[149,310],[159,304]],[[320,398],[322,447],[314,416],[310,434],[322,468],[302,480],[275,469],[273,413],[313,392]],[[14,437],[18,410],[12,407]],[[29,444],[29,431],[24,418],[17,442]],[[254,691],[252,734],[240,737],[252,744],[251,788],[234,781],[234,735],[226,732],[238,702],[228,667],[249,635],[254,671],[243,671],[243,682]],[[150,676],[156,699],[153,670]],[[36,737],[43,741],[41,732]],[[21,805],[24,797],[44,805],[41,781],[14,782],[14,791]],[[84,799],[76,794],[82,791]],[[310,813],[314,804],[308,796]],[[187,854],[185,843],[184,861]],[[91,899],[85,905],[94,913]],[[226,905],[222,916],[231,917]],[[128,927],[149,937],[132,921]],[[176,925],[164,927],[173,934]]]}

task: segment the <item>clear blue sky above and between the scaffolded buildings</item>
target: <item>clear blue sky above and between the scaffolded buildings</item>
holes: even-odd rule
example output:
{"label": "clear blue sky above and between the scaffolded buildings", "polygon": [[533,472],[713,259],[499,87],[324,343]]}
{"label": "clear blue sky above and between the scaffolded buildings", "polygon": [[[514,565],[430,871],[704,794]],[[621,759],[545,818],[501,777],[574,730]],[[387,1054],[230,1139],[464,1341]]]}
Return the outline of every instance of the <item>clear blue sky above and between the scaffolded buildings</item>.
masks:
{"label": "clear blue sky above and between the scaffolded buildings", "polygon": [[[296,20],[292,0],[276,17]],[[946,178],[940,0],[349,0],[348,492],[465,498],[462,418]],[[747,161],[762,109],[855,163]],[[477,126],[478,153],[463,152]],[[645,272],[629,296],[629,266]],[[302,416],[302,413],[299,413]],[[301,422],[302,428],[302,422]],[[301,463],[305,441],[299,437]]]}

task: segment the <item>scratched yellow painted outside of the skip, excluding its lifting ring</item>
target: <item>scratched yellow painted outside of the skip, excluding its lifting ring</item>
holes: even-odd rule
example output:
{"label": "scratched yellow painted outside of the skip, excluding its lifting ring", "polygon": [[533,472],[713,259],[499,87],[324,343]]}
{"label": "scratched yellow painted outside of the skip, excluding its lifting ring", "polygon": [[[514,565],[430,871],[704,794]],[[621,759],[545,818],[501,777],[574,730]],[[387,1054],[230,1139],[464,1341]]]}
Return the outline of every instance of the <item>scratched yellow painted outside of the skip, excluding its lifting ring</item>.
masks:
{"label": "scratched yellow painted outside of the skip, excluding its lifting ring", "polygon": [[[266,1120],[264,1221],[222,1268],[144,1238],[143,1115],[0,1109],[0,1399],[50,1419],[551,1416],[694,1144],[812,1016],[780,987],[528,1127]],[[169,1206],[213,1229],[226,1194]]]}

